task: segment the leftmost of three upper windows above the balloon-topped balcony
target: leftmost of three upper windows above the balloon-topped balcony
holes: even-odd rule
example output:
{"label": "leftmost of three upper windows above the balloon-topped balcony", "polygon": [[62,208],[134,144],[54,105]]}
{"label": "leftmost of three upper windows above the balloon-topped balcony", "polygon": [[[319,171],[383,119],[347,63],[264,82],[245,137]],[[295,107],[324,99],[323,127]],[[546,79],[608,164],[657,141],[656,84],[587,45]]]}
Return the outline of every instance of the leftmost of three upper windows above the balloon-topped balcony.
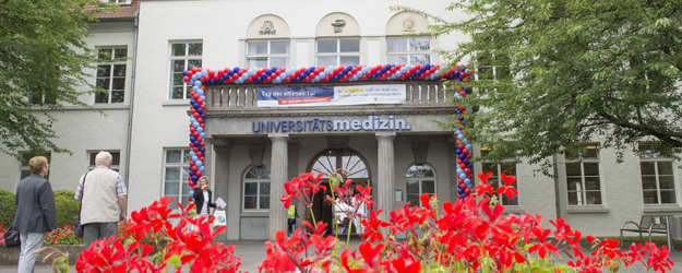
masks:
{"label": "leftmost of three upper windows above the balloon-topped balcony", "polygon": [[289,40],[262,40],[247,44],[247,66],[249,68],[289,67]]}

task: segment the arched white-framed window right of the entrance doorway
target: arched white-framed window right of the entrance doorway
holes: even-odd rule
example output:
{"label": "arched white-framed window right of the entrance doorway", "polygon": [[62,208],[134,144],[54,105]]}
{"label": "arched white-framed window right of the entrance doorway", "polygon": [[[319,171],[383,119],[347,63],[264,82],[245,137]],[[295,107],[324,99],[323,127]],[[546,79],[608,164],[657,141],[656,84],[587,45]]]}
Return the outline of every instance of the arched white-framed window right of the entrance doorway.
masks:
{"label": "arched white-framed window right of the entrance doorway", "polygon": [[405,175],[406,200],[409,206],[420,206],[419,197],[423,193],[435,194],[435,171],[429,165],[412,165]]}

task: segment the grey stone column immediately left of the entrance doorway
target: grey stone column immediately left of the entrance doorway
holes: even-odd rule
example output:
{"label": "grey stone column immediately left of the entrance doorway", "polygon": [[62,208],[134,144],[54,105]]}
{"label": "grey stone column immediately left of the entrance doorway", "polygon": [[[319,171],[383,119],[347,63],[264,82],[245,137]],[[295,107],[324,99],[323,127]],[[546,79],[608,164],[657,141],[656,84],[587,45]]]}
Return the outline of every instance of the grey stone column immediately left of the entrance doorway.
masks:
{"label": "grey stone column immediately left of the entrance doorway", "polygon": [[275,240],[278,230],[286,230],[287,210],[279,199],[284,194],[284,183],[288,178],[288,133],[267,135],[273,142],[270,164],[270,240]]}

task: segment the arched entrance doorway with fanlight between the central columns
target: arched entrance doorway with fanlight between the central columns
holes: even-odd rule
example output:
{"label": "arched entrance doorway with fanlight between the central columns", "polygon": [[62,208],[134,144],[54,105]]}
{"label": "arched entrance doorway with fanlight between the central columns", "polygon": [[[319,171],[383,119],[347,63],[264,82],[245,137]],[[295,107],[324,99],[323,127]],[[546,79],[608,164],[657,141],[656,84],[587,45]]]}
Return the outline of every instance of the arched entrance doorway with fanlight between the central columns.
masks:
{"label": "arched entrance doorway with fanlight between the central columns", "polygon": [[[327,235],[358,235],[362,233],[360,219],[356,217],[350,223],[344,211],[348,211],[347,207],[340,207],[342,205],[333,206],[331,202],[326,201],[327,195],[332,195],[332,189],[330,187],[330,174],[333,174],[337,169],[347,169],[348,174],[342,174],[344,182],[346,179],[351,179],[349,188],[356,189],[358,185],[362,187],[371,186],[370,182],[370,168],[369,163],[364,157],[355,150],[351,149],[327,149],[315,155],[308,165],[308,173],[323,174],[322,183],[327,188],[324,192],[319,192],[313,201],[312,211],[314,213],[315,221],[327,224]],[[343,185],[342,185],[343,186]],[[334,211],[336,207],[336,211]],[[346,210],[344,210],[346,209]],[[367,207],[360,207],[358,213],[364,214]],[[306,214],[306,221],[312,223],[310,213]],[[337,225],[335,225],[335,222]],[[351,225],[352,224],[352,225]],[[338,228],[336,228],[338,226]]]}

